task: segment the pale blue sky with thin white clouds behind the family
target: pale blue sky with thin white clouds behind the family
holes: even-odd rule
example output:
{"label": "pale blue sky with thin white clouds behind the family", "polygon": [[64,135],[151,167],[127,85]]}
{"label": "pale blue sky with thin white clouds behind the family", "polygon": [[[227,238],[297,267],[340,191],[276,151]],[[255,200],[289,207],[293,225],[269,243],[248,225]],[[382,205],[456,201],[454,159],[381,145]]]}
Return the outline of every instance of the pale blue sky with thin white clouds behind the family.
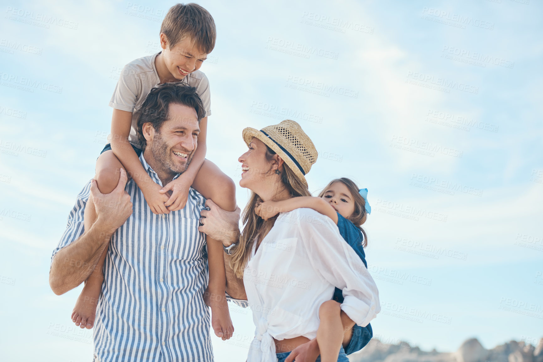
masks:
{"label": "pale blue sky with thin white clouds behind the family", "polygon": [[[201,67],[212,98],[207,158],[237,182],[242,129],[292,118],[319,151],[312,192],[340,176],[369,189],[366,253],[383,302],[375,335],[439,351],[470,337],[493,348],[543,336],[540,3],[199,4],[218,32]],[[90,358],[90,333],[70,321],[80,288],[50,291],[50,253],[94,174],[118,72],[157,51],[171,5],[2,5],[8,359],[35,359],[30,344],[43,360]],[[238,187],[238,205],[247,195]],[[251,314],[235,309],[232,319],[237,336],[213,340],[217,361],[247,353]]]}

